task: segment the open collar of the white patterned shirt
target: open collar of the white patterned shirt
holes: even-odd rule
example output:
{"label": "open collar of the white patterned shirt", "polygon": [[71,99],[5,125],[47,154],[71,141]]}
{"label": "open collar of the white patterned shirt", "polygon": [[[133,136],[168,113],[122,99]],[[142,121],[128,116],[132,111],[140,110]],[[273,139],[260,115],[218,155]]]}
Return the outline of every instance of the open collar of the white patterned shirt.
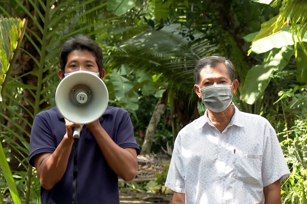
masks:
{"label": "open collar of the white patterned shirt", "polygon": [[[238,127],[244,127],[244,122],[242,120],[242,113],[241,111],[237,108],[237,106],[231,104],[235,108],[235,113],[233,114],[230,123],[227,125],[227,127],[230,127],[232,125],[236,125]],[[198,123],[198,128],[204,127],[205,124],[212,124],[210,119],[208,118],[208,110],[206,109],[205,113],[203,116],[201,116],[201,120]]]}

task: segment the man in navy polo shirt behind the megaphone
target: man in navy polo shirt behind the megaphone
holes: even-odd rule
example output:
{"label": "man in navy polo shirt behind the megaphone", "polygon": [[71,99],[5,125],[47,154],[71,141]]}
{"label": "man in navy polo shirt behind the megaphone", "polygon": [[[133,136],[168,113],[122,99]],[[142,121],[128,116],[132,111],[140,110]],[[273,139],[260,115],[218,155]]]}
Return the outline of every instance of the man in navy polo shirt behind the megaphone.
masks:
{"label": "man in navy polo shirt behind the megaphone", "polygon": [[[101,79],[105,74],[101,48],[83,35],[63,44],[60,66],[61,80],[79,70],[95,72]],[[77,146],[74,126],[82,128]],[[37,170],[42,204],[119,204],[118,176],[135,178],[139,153],[126,110],[108,106],[97,121],[82,126],[64,119],[54,107],[34,119],[29,163]]]}

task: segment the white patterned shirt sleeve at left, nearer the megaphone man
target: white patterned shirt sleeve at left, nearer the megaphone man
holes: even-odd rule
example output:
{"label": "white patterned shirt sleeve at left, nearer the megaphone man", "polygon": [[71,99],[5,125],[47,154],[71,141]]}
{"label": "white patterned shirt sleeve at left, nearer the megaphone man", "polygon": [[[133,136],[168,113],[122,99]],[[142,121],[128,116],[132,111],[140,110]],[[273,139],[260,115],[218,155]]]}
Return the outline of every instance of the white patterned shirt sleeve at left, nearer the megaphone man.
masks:
{"label": "white patterned shirt sleeve at left, nearer the megaphone man", "polygon": [[177,135],[174,143],[174,150],[169,164],[165,187],[177,192],[185,193],[185,176],[181,157],[181,139]]}

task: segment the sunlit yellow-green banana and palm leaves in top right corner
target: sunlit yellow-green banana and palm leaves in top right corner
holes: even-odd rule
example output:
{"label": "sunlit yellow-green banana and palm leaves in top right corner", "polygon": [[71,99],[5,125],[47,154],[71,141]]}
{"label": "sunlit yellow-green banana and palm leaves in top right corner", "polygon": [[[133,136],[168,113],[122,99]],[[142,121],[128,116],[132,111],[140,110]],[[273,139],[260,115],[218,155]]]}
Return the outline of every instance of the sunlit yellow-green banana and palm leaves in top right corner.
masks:
{"label": "sunlit yellow-green banana and palm leaves in top right corner", "polygon": [[[280,7],[279,13],[261,24],[260,31],[253,32],[244,37],[247,42],[251,42],[250,53],[265,53],[262,65],[253,66],[247,73],[247,79],[243,86],[243,100],[248,104],[263,95],[267,84],[270,82],[273,72],[281,71],[290,62],[290,57],[296,57],[296,79],[299,83],[307,82],[307,21],[306,21],[306,1],[262,1],[264,4],[271,4]],[[279,57],[271,58],[268,55],[272,50],[279,50]],[[250,80],[258,76],[258,80]]]}

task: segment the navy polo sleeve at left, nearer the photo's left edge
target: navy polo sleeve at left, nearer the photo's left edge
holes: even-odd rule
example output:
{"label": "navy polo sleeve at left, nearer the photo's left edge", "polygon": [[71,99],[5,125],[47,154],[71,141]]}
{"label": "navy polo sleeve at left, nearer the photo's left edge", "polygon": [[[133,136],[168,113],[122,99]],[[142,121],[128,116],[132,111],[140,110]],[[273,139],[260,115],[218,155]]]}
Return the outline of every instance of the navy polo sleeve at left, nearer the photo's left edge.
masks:
{"label": "navy polo sleeve at left, nearer the photo's left edge", "polygon": [[30,135],[29,164],[35,167],[35,155],[46,152],[53,153],[55,149],[56,145],[48,122],[43,115],[36,115]]}

